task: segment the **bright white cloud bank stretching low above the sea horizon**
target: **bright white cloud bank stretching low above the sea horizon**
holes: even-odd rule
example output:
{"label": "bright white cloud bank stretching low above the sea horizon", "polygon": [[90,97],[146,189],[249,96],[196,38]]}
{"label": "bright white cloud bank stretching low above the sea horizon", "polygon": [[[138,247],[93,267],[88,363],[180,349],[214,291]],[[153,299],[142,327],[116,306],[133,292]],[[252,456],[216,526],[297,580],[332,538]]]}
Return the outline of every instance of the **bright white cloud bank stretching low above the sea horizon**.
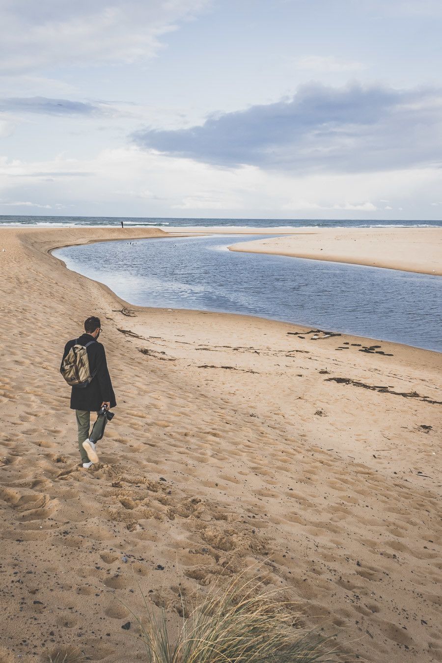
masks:
{"label": "bright white cloud bank stretching low above the sea horizon", "polygon": [[[71,172],[90,176],[62,176]],[[38,173],[42,176],[30,177]],[[43,176],[50,173],[60,177]],[[441,168],[299,175],[255,166],[215,168],[120,147],[88,158],[61,153],[51,160],[23,161],[0,156],[0,198],[28,203],[22,209],[0,203],[0,210],[57,214],[59,204],[64,213],[82,216],[204,217],[217,210],[215,216],[230,218],[439,219],[441,208],[429,202],[440,200],[441,178]],[[390,200],[394,213],[384,211],[380,199]],[[41,208],[32,210],[30,201]]]}

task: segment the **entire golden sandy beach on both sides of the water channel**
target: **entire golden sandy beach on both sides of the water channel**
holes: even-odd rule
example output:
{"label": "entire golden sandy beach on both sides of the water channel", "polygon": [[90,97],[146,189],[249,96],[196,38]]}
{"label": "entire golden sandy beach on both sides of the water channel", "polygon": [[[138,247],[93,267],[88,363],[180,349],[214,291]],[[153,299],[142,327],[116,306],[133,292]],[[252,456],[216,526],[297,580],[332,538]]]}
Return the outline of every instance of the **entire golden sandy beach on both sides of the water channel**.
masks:
{"label": "entire golden sandy beach on both sides of the water channel", "polygon": [[[366,231],[241,248],[441,274],[433,230],[370,231],[366,253],[365,239],[351,244]],[[336,634],[359,660],[442,661],[442,354],[129,306],[50,255],[164,236],[0,229],[0,663],[47,663],[63,648],[146,660],[131,614],[143,613],[141,591],[178,624],[180,590],[195,599],[256,564],[266,589],[298,603],[302,625]],[[90,315],[117,408],[85,471],[58,371]]]}

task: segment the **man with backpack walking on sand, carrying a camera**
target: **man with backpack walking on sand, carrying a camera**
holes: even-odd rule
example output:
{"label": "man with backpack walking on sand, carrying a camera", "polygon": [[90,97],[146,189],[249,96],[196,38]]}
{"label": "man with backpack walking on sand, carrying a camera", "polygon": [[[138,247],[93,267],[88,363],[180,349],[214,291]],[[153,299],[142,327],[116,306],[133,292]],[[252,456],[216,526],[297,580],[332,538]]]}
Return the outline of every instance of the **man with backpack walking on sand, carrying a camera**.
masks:
{"label": "man with backpack walking on sand, carrying a camera", "polygon": [[[76,411],[78,448],[83,467],[89,469],[98,462],[96,444],[103,437],[106,422],[113,417],[109,408],[115,408],[117,402],[105,349],[97,340],[103,331],[99,318],[87,318],[84,330],[80,337],[66,343],[60,373],[72,387],[70,408]],[[97,412],[97,420],[89,434],[91,412]]]}

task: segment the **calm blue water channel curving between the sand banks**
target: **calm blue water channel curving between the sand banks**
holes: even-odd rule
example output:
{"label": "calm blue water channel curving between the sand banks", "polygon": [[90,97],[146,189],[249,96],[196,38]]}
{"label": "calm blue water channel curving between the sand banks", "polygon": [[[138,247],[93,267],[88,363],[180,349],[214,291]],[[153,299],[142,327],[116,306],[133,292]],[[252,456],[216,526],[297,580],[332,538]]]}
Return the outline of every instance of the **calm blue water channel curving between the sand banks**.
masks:
{"label": "calm blue water channel curving between the sand banks", "polygon": [[227,250],[240,241],[141,239],[54,255],[138,306],[249,314],[442,351],[441,277]]}

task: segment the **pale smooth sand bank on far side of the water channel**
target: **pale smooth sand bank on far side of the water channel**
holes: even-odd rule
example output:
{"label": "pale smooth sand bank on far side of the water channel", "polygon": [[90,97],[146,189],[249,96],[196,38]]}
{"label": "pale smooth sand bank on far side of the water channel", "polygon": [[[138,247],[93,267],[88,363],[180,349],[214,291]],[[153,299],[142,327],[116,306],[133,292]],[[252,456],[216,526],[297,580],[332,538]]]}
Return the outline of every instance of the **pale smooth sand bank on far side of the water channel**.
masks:
{"label": "pale smooth sand bank on far side of the water channel", "polygon": [[290,235],[286,233],[284,237],[235,244],[231,251],[270,253],[442,275],[440,228],[311,229]]}

